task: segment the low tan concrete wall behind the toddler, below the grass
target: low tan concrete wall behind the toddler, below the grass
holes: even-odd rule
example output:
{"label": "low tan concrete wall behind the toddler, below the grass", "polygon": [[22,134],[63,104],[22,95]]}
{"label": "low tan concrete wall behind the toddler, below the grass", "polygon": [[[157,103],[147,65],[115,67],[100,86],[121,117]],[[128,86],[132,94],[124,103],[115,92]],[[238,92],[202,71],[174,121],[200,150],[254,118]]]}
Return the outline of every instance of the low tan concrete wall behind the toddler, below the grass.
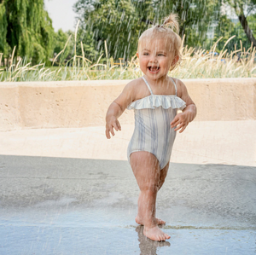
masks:
{"label": "low tan concrete wall behind the toddler, below the grass", "polygon": [[[129,80],[0,84],[0,130],[105,125],[109,104]],[[256,78],[187,79],[196,120],[256,119]],[[133,122],[125,111],[120,122]]]}

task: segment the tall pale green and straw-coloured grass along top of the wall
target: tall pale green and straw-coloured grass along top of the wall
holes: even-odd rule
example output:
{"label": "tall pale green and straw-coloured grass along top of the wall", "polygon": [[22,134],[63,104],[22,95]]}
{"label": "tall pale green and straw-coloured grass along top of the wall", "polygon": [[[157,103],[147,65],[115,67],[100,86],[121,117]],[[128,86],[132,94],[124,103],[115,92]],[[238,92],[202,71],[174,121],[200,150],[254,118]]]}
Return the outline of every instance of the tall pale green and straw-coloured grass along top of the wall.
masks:
{"label": "tall pale green and straw-coloured grass along top of the wall", "polygon": [[[78,26],[77,26],[78,27]],[[76,44],[75,33],[75,44]],[[226,41],[224,49],[219,55],[214,55],[219,38],[212,45],[207,53],[206,49],[195,49],[183,47],[183,61],[170,75],[176,78],[248,78],[256,77],[255,64],[255,48],[253,44],[249,49],[244,49],[241,44],[241,49],[228,53],[225,49],[227,43],[232,38]],[[184,38],[183,38],[184,39]],[[68,41],[70,38],[68,38]],[[14,58],[15,49],[13,50],[10,67],[0,69],[0,81],[15,82],[15,81],[61,81],[61,80],[96,80],[96,79],[133,79],[142,76],[139,68],[138,59],[132,57],[125,64],[120,61],[119,65],[114,65],[113,58],[108,56],[108,47],[105,42],[105,59],[102,60],[103,54],[98,58],[96,63],[92,63],[84,57],[83,44],[82,55],[76,55],[74,52],[73,58],[64,66],[61,65],[61,55],[65,52],[67,43],[64,49],[55,56],[53,64],[59,58],[59,67],[45,67],[44,63],[32,66],[31,62],[26,59],[16,61]],[[241,55],[238,61],[238,54]],[[247,58],[242,58],[247,56]],[[3,54],[0,53],[0,67]]]}

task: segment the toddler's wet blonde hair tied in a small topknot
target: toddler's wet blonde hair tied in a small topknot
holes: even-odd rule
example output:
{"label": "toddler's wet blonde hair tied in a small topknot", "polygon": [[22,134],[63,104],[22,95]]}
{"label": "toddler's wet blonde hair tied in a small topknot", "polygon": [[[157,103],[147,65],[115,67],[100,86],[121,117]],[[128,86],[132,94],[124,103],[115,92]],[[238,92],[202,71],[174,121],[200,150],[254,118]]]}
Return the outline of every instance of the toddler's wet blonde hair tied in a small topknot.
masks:
{"label": "toddler's wet blonde hair tied in a small topknot", "polygon": [[[170,67],[170,71],[176,68],[182,61],[182,38],[178,35],[179,25],[177,22],[178,16],[177,14],[170,14],[167,16],[162,25],[156,25],[151,28],[148,28],[146,31],[142,33],[138,40],[137,51],[139,51],[139,47],[142,41],[146,38],[167,38],[171,40],[172,49],[174,49],[174,55],[178,56],[178,61],[175,65]],[[175,31],[175,32],[174,32]]]}

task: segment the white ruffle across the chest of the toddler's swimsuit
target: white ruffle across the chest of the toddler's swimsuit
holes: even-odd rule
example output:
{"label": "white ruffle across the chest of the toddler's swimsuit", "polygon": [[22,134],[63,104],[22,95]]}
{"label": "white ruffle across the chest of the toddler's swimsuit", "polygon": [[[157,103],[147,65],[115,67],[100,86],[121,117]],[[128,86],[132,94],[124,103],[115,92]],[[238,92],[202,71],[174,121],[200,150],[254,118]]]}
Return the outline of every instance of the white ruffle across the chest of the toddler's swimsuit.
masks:
{"label": "white ruffle across the chest of the toddler's swimsuit", "polygon": [[150,95],[137,101],[132,101],[127,109],[141,110],[146,108],[154,109],[157,107],[163,107],[165,109],[172,107],[172,109],[183,110],[183,108],[186,107],[186,103],[180,97],[175,95]]}

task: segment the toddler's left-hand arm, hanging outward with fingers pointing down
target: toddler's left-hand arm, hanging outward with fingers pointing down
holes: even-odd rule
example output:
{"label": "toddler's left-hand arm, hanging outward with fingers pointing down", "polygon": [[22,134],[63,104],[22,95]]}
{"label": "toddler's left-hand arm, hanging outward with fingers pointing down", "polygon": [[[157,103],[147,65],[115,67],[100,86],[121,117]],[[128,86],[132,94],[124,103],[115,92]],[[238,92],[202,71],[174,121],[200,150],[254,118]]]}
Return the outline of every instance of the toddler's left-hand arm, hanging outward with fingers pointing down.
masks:
{"label": "toddler's left-hand arm, hanging outward with fingers pointing down", "polygon": [[113,129],[116,131],[121,130],[118,118],[122,113],[124,113],[125,108],[131,103],[131,101],[133,101],[134,91],[134,83],[131,82],[127,84],[119,97],[108,107],[108,112],[106,114],[106,136],[108,139],[111,138],[110,133],[114,136]]}

